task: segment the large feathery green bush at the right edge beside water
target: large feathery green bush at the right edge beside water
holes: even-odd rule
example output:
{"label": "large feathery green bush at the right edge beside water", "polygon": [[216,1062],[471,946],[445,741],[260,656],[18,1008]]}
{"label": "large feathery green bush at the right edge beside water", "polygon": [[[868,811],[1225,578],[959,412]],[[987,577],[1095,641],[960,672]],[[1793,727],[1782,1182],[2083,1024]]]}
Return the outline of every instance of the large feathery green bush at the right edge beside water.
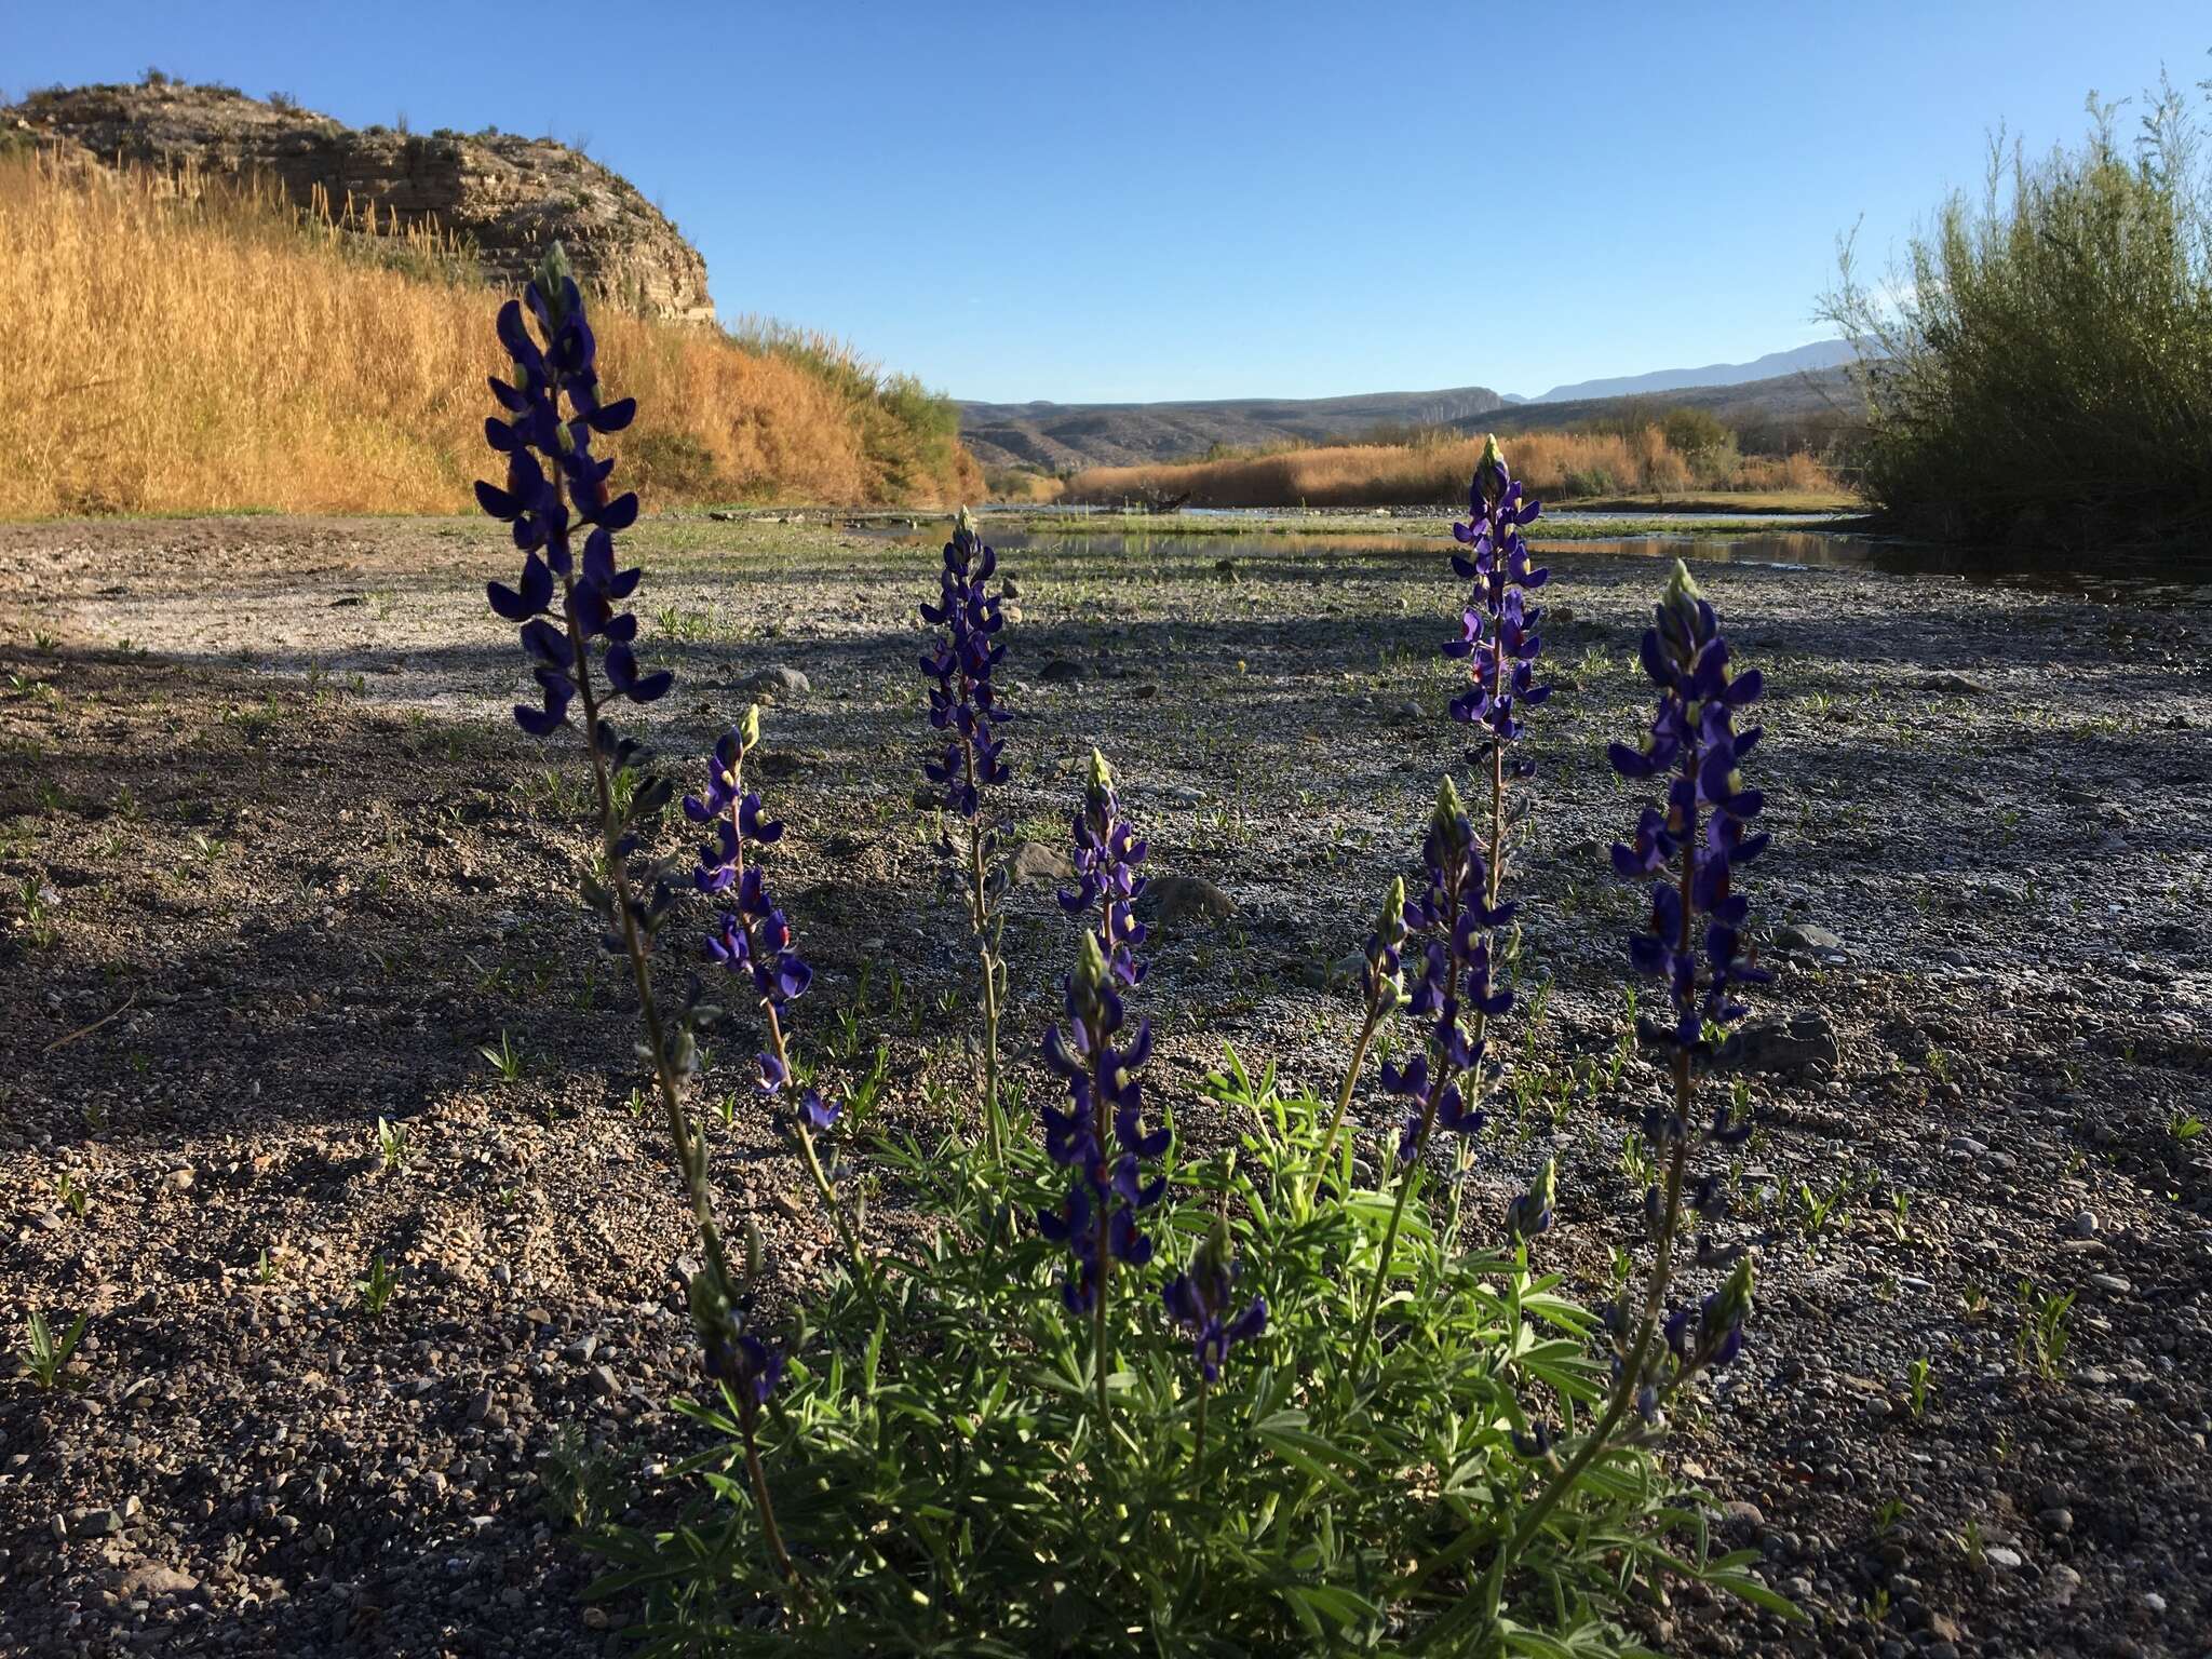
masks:
{"label": "large feathery green bush at the right edge beside water", "polygon": [[[2208,84],[2212,86],[2212,84]],[[1867,352],[1865,489],[1958,540],[2212,526],[2212,175],[2205,122],[2159,86],[2137,137],[2090,102],[2079,148],[1993,146],[1887,292],[1845,252],[1827,310]]]}

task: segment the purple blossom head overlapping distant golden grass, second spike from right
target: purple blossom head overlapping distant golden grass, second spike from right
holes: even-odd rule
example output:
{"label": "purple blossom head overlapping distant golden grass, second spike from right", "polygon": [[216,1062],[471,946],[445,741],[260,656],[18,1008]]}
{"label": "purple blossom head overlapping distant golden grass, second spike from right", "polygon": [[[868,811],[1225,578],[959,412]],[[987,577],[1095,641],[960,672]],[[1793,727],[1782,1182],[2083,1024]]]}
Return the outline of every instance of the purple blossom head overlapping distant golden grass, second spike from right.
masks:
{"label": "purple blossom head overlapping distant golden grass, second spike from right", "polygon": [[[1551,571],[1528,568],[1522,524],[1535,522],[1542,504],[1531,500],[1506,471],[1504,451],[1491,438],[1467,491],[1467,524],[1451,533],[1467,549],[1451,555],[1451,568],[1475,584],[1473,602],[1460,615],[1460,633],[1444,641],[1447,657],[1467,657],[1469,688],[1453,699],[1451,717],[1486,726],[1500,743],[1522,734],[1515,710],[1551,697],[1535,684],[1542,611],[1526,595],[1551,580]],[[1526,768],[1515,768],[1526,772]]]}

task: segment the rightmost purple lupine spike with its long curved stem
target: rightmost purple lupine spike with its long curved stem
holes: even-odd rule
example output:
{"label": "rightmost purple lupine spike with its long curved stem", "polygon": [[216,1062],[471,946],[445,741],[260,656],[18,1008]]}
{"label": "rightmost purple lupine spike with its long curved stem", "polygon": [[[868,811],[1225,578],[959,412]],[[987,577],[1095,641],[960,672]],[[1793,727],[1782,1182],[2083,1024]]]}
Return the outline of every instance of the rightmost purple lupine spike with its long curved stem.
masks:
{"label": "rightmost purple lupine spike with its long curved stem", "polygon": [[1630,1409],[1646,1431],[1655,1431],[1677,1389],[1736,1358],[1752,1312],[1750,1256],[1705,1237],[1697,1239],[1692,1261],[1730,1267],[1728,1281],[1694,1307],[1666,1312],[1683,1210],[1697,1210],[1708,1223],[1725,1210],[1717,1175],[1688,1179],[1690,1155],[1699,1146],[1741,1146],[1752,1133],[1747,1121],[1730,1121],[1725,1104],[1699,1126],[1697,1082],[1708,1064],[1725,1057],[1725,1040],[1717,1037],[1743,1018],[1741,989],[1770,978],[1743,951],[1750,905],[1734,887],[1736,869],[1767,847],[1767,836],[1752,830],[1765,801],[1745,787],[1739,770],[1759,743],[1759,728],[1736,730],[1736,712],[1759,701],[1761,675],[1756,668],[1730,670],[1721,619],[1681,562],[1644,633],[1644,672],[1659,686],[1650,732],[1639,748],[1615,743],[1610,759],[1621,776],[1668,779],[1666,807],[1646,805],[1635,836],[1613,849],[1621,876],[1652,883],[1648,925],[1630,938],[1628,956],[1639,973],[1666,982],[1672,1013],[1659,1035],[1672,1048],[1674,1097],[1644,1119],[1663,1170],[1661,1186],[1644,1194],[1652,1265],[1635,1321],[1626,1307],[1615,1307],[1615,1383],[1604,1416],[1522,1511],[1493,1579],[1528,1546]]}

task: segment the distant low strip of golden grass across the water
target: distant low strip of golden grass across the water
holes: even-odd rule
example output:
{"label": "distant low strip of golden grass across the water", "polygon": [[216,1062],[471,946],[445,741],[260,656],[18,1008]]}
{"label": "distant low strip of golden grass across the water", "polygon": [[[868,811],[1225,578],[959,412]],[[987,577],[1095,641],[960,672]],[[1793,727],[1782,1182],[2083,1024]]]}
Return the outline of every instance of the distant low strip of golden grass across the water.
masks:
{"label": "distant low strip of golden grass across the water", "polygon": [[[1467,495],[1482,438],[1422,445],[1283,449],[1239,460],[1161,467],[1091,467],[1068,480],[1068,500],[1117,502],[1190,493],[1192,507],[1405,507]],[[1677,495],[1701,491],[1834,491],[1812,456],[1734,458],[1723,476],[1699,476],[1659,427],[1630,436],[1526,431],[1506,442],[1513,476],[1544,500]],[[1712,471],[1710,467],[1705,469]]]}

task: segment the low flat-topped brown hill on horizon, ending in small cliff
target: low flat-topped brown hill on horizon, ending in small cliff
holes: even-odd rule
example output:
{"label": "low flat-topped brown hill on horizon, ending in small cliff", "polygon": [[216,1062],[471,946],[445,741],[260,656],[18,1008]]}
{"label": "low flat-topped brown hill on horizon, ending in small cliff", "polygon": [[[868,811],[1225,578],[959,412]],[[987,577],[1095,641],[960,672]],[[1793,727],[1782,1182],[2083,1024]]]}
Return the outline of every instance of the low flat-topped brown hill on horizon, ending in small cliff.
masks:
{"label": "low flat-topped brown hill on horizon, ending in small cliff", "polygon": [[960,440],[987,467],[1139,467],[1237,449],[1354,438],[1376,427],[1440,427],[1504,407],[1489,387],[1367,392],[1352,398],[1212,403],[962,403]]}

